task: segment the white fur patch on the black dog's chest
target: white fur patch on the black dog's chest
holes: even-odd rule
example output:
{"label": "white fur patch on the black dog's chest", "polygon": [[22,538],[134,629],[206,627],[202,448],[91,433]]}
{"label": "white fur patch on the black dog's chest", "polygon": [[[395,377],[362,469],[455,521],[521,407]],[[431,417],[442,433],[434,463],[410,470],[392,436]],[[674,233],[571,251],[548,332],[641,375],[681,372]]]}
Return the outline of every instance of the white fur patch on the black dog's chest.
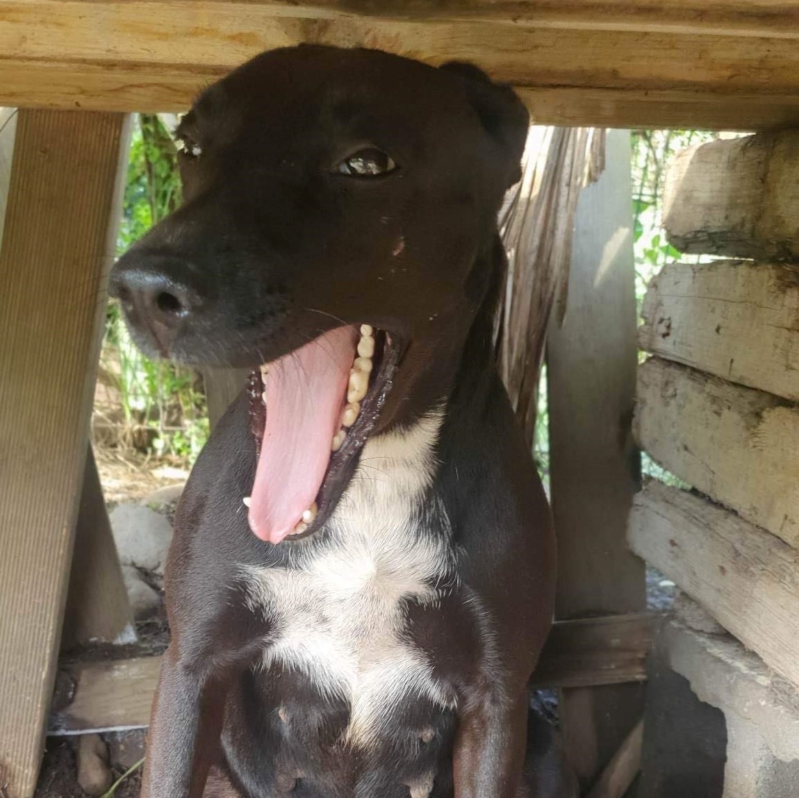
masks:
{"label": "white fur patch on the black dog's chest", "polygon": [[436,600],[451,565],[440,535],[415,527],[435,469],[440,415],[372,439],[324,546],[296,547],[294,567],[248,570],[253,603],[276,627],[264,665],[296,669],[350,702],[348,740],[368,744],[405,697],[451,705],[425,654],[403,640],[407,599]]}

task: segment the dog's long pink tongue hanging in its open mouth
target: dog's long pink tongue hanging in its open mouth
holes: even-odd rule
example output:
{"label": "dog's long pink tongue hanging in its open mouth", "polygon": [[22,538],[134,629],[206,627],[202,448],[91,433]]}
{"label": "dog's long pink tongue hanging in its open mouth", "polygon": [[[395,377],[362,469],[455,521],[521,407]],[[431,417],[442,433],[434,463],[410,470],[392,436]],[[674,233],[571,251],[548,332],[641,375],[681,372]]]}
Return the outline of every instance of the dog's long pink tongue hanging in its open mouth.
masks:
{"label": "dog's long pink tongue hanging in its open mouth", "polygon": [[316,500],[341,425],[356,331],[337,328],[269,364],[250,529],[279,543]]}

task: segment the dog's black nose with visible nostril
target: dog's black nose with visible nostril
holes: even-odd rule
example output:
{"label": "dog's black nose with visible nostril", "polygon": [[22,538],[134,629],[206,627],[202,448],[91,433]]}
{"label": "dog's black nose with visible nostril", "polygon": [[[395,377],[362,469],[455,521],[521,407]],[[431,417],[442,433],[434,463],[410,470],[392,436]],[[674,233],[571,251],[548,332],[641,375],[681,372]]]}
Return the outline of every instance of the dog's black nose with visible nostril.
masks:
{"label": "dog's black nose with visible nostril", "polygon": [[109,280],[129,323],[150,335],[161,355],[169,355],[178,328],[188,324],[204,304],[189,283],[188,264],[165,256],[129,252],[114,265]]}

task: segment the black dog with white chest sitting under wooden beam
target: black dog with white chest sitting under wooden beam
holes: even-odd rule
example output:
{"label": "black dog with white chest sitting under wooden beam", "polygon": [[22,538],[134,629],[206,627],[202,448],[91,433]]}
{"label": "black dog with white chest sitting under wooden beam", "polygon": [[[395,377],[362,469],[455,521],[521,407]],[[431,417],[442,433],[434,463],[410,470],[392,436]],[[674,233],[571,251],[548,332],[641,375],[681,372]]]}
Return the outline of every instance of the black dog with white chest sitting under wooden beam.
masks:
{"label": "black dog with white chest sitting under wooden beam", "polygon": [[113,292],[145,350],[255,371],[177,513],[146,795],[532,794],[554,542],[491,343],[527,124],[473,66],[319,46],[181,122]]}

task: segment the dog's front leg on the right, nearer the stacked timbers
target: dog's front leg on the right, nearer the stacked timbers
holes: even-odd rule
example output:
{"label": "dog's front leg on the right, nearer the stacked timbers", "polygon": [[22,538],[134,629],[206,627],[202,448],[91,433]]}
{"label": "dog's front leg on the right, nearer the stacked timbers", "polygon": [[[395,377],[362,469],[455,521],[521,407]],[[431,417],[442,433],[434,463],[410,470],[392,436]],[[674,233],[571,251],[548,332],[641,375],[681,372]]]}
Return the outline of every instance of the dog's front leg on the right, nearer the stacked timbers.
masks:
{"label": "dog's front leg on the right, nearer the stacked timbers", "polygon": [[527,689],[471,697],[459,714],[453,776],[455,798],[517,798],[527,738]]}

